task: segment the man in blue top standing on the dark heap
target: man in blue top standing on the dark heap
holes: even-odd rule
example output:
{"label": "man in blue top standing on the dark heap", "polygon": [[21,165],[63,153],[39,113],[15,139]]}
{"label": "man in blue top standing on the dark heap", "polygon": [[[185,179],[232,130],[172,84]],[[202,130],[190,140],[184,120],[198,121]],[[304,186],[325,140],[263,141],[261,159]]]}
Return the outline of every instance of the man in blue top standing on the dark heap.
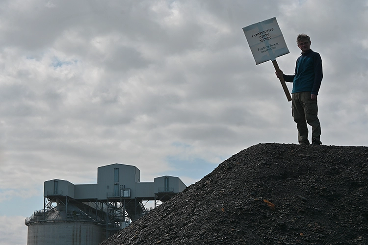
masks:
{"label": "man in blue top standing on the dark heap", "polygon": [[317,113],[317,95],[322,81],[322,60],[319,53],[312,51],[311,39],[306,34],[299,34],[296,43],[301,55],[296,60],[295,74],[285,75],[281,70],[277,77],[284,77],[292,82],[292,116],[298,129],[300,145],[309,145],[307,123],[312,126],[312,145],[321,145],[321,125]]}

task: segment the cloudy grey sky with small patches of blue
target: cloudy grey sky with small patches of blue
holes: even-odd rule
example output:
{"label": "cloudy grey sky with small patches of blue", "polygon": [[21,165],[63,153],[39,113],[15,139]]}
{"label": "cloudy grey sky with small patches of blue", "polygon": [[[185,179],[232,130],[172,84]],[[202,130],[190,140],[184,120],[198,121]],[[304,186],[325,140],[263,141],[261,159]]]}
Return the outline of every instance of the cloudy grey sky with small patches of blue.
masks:
{"label": "cloudy grey sky with small patches of blue", "polygon": [[273,17],[284,73],[300,33],[322,57],[322,143],[368,146],[367,0],[1,0],[0,244],[26,244],[44,181],[122,163],[189,186],[247,147],[297,144],[242,30]]}

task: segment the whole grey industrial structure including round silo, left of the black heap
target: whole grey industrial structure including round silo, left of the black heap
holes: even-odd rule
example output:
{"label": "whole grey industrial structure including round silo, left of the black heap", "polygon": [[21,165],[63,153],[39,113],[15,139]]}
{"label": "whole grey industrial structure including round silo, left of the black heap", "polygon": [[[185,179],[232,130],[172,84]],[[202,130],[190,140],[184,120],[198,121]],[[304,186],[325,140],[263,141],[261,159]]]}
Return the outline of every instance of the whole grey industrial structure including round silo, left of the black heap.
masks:
{"label": "whole grey industrial structure including round silo, left of the black heap", "polygon": [[117,163],[97,169],[97,184],[45,181],[43,209],[25,220],[27,245],[98,245],[147,214],[148,201],[156,207],[185,188],[173,176],[140,182],[138,168]]}

